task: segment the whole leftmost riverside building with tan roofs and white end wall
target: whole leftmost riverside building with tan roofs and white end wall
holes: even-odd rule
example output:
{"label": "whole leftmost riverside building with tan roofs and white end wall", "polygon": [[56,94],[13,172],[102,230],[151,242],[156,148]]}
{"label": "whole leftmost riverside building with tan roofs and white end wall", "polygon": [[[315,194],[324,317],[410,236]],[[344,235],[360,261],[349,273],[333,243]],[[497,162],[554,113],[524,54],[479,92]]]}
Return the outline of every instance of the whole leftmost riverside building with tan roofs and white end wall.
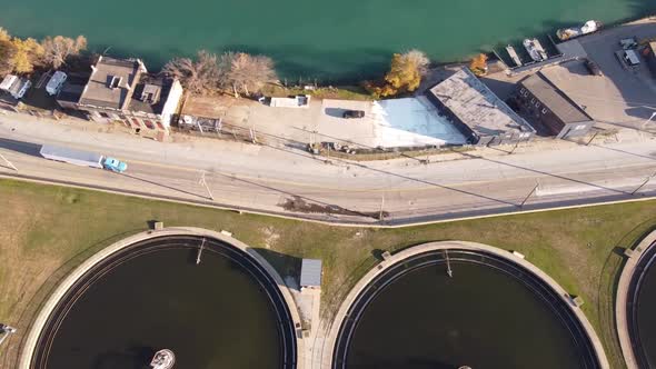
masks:
{"label": "whole leftmost riverside building with tan roofs and white end wall", "polygon": [[87,112],[90,120],[120,121],[135,133],[162,140],[181,98],[178,80],[149,74],[141,60],[101,56],[88,79],[64,82],[57,102]]}

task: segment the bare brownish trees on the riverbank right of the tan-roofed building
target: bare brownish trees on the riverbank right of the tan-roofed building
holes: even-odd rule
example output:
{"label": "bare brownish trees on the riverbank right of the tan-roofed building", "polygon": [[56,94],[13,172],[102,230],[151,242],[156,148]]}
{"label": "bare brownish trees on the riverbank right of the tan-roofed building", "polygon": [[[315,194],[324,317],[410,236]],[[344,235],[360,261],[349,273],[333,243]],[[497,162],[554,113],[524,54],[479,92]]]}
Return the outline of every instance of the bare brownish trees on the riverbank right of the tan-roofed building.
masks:
{"label": "bare brownish trees on the riverbank right of the tan-roofed building", "polygon": [[191,93],[222,89],[232,91],[235,96],[249,96],[259,92],[266,83],[278,81],[270,58],[246,52],[217,56],[201,50],[196,59],[176,58],[169,61],[162,73],[178,78]]}

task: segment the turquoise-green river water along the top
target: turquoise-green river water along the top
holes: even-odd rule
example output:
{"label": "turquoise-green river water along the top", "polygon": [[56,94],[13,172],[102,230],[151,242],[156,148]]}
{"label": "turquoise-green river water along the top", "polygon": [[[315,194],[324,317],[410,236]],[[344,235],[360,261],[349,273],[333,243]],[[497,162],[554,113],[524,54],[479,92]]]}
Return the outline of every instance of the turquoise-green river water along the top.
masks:
{"label": "turquoise-green river water along the top", "polygon": [[617,22],[656,11],[654,0],[0,0],[0,26],[22,37],[89,39],[92,51],[136,56],[157,69],[198,49],[271,56],[282,76],[361,78],[392,52],[435,61],[588,19]]}

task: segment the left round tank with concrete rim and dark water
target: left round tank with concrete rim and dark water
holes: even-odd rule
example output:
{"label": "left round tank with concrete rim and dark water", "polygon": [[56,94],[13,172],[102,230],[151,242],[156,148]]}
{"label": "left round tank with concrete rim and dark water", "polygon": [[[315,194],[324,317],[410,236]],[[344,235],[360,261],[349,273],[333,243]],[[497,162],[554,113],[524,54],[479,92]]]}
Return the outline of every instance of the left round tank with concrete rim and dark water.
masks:
{"label": "left round tank with concrete rim and dark water", "polygon": [[289,299],[264,259],[212,237],[157,235],[80,267],[38,318],[23,363],[139,369],[163,347],[179,368],[296,368]]}

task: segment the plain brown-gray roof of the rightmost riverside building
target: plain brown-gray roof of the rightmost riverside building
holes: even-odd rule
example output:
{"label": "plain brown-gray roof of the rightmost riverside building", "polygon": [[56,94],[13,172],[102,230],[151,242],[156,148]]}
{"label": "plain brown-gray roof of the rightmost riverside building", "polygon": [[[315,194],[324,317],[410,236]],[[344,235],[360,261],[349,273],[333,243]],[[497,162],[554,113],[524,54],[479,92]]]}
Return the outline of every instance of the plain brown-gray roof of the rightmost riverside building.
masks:
{"label": "plain brown-gray roof of the rightmost riverside building", "polygon": [[593,120],[541,72],[526,77],[519,83],[558,117],[564,123]]}

